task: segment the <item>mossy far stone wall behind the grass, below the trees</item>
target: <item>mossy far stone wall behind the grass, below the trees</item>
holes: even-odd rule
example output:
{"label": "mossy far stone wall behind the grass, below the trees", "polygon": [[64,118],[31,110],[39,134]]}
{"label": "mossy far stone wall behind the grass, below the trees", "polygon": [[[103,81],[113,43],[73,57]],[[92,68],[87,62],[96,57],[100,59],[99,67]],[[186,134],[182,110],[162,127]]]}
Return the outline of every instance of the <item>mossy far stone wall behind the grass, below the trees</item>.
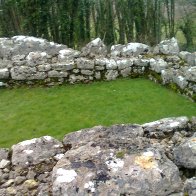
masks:
{"label": "mossy far stone wall behind the grass, below the trees", "polygon": [[179,52],[175,38],[154,48],[128,43],[109,51],[99,38],[81,51],[34,37],[0,38],[0,86],[53,86],[140,76],[196,99],[196,53]]}

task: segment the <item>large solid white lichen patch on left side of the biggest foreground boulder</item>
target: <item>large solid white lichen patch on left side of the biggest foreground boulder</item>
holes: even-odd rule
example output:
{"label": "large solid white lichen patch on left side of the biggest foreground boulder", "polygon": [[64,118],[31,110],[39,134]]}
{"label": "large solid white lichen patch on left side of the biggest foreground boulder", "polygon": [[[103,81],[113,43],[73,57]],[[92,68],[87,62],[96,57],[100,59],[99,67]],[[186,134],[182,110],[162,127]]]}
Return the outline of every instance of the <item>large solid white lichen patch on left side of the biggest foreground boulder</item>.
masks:
{"label": "large solid white lichen patch on left side of the biggest foreground boulder", "polygon": [[75,172],[75,170],[71,169],[71,170],[66,170],[66,169],[62,169],[59,168],[57,169],[57,178],[56,178],[56,182],[58,183],[70,183],[73,180],[75,180],[77,173]]}

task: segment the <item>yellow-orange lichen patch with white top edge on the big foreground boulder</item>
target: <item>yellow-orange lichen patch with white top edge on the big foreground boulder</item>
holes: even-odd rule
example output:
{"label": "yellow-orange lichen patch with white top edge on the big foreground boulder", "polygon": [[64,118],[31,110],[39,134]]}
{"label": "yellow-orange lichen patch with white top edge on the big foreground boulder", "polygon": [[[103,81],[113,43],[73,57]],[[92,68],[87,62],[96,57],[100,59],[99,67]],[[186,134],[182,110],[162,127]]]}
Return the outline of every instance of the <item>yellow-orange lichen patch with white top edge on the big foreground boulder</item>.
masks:
{"label": "yellow-orange lichen patch with white top edge on the big foreground boulder", "polygon": [[154,159],[153,152],[145,152],[141,156],[136,156],[134,162],[143,169],[152,169],[157,167],[157,162]]}

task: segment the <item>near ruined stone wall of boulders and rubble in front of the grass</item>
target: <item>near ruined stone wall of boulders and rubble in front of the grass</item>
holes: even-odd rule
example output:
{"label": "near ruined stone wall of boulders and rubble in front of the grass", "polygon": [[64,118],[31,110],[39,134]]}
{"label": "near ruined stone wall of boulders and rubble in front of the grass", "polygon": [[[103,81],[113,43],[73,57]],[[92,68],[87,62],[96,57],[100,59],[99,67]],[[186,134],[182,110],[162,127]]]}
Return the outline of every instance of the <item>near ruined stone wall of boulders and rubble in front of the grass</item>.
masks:
{"label": "near ruined stone wall of boulders and rubble in front of the grass", "polygon": [[0,149],[1,196],[196,195],[196,117],[97,126]]}

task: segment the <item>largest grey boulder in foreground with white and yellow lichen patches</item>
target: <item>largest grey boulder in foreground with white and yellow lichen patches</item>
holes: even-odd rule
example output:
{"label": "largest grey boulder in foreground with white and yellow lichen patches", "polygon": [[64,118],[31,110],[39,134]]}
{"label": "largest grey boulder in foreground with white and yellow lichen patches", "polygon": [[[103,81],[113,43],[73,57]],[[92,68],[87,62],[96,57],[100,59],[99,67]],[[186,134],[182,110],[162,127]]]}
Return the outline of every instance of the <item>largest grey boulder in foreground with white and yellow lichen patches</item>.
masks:
{"label": "largest grey boulder in foreground with white and yellow lichen patches", "polygon": [[178,168],[159,151],[137,153],[89,143],[53,169],[53,195],[168,195],[181,189]]}

